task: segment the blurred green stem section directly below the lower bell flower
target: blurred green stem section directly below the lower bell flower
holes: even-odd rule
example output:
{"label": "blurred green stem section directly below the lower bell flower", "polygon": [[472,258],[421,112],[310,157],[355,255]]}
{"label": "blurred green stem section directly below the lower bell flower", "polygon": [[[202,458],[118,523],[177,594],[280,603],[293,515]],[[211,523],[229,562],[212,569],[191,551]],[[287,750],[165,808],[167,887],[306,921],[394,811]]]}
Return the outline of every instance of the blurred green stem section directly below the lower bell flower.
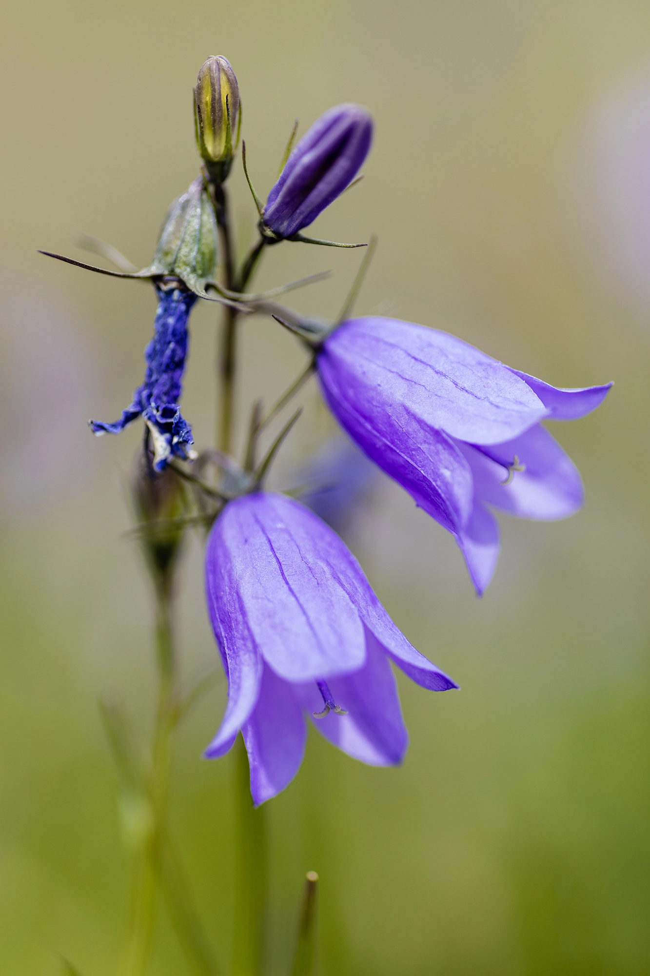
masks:
{"label": "blurred green stem section directly below the lower bell flower", "polygon": [[265,808],[251,798],[248,755],[241,735],[234,745],[235,906],[232,976],[260,976],[266,900]]}

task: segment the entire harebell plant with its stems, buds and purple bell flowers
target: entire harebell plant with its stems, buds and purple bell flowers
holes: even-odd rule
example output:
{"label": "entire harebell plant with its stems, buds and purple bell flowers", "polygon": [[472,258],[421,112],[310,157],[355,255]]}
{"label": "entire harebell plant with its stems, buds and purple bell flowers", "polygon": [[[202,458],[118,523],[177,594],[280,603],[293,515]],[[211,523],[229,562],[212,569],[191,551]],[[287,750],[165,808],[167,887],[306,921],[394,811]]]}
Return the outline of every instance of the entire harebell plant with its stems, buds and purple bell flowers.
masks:
{"label": "entire harebell plant with its stems, buds and purple bell flowers", "polygon": [[[223,971],[193,909],[166,823],[173,734],[214,676],[208,673],[189,688],[181,680],[173,600],[184,534],[196,527],[207,538],[208,614],[228,685],[221,727],[205,754],[222,756],[238,740],[231,970],[257,976],[268,969],[262,936],[265,831],[264,808],[253,805],[260,807],[296,776],[307,720],[353,758],[396,765],[404,758],[408,734],[393,666],[431,691],[458,687],[395,626],[332,526],[345,527],[344,509],[361,504],[373,462],[454,535],[482,593],[499,552],[494,509],[554,519],[582,505],[580,474],[543,422],[584,416],[611,386],[559,389],[445,332],[392,318],[352,318],[362,275],[334,324],[276,302],[278,295],[323,273],[251,294],[248,286],[269,246],[286,240],[365,246],[306,237],[303,231],[358,182],[373,139],[372,117],[360,105],[336,105],[295,147],[294,129],[265,204],[250,180],[242,141],[259,235],[238,262],[225,181],[238,149],[242,105],[237,78],[222,55],[201,67],[192,105],[200,172],[170,207],[151,264],[137,270],[95,238],[85,238],[85,246],[117,271],[44,252],[102,274],[148,280],[158,302],[142,385],[119,420],[90,422],[103,434],[144,420],[135,491],[140,524],[134,534],[155,597],[158,700],[146,761],[142,749],[131,744],[121,707],[103,709],[123,800],[128,800],[123,805],[133,809],[136,797],[139,811],[138,830],[131,830],[131,915],[120,976],[143,976],[147,969],[159,890],[193,968],[203,976]],[[200,453],[180,406],[188,319],[198,300],[223,305],[219,433],[217,443]],[[307,346],[309,359],[270,410],[264,412],[255,400],[248,434],[241,436],[243,448],[235,451],[232,445],[242,433],[235,423],[238,326],[252,313],[271,315],[290,328]],[[316,479],[305,501],[330,524],[289,497],[289,489],[285,494],[264,489],[300,411],[259,457],[264,436],[313,372],[332,414],[370,459],[356,448],[349,455],[348,444],[347,454],[335,451],[305,466]],[[133,823],[132,817],[132,828]],[[315,878],[310,875],[306,889],[295,973],[313,971]]]}

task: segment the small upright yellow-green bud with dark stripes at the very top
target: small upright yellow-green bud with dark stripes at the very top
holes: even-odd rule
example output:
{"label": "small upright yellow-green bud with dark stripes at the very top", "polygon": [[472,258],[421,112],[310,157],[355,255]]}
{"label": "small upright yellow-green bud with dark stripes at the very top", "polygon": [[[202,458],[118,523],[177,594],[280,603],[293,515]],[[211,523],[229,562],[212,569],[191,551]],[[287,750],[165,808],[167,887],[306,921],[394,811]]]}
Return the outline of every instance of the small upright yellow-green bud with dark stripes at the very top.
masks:
{"label": "small upright yellow-green bud with dark stripes at the very top", "polygon": [[211,55],[198,73],[194,89],[196,144],[212,179],[228,175],[239,142],[239,87],[229,61]]}

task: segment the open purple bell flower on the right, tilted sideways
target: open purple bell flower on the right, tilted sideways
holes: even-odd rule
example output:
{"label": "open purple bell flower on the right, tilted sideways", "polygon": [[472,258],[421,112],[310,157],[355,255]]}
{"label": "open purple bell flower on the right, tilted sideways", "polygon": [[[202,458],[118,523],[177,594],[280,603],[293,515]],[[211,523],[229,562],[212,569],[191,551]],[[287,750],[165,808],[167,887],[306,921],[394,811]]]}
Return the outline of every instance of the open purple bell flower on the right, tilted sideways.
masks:
{"label": "open purple bell flower on the right, tilted sideways", "polygon": [[490,508],[556,519],[583,504],[578,469],[542,427],[594,410],[611,384],[557,389],[437,329],[349,319],[317,354],[349,436],[456,537],[481,594],[499,555]]}

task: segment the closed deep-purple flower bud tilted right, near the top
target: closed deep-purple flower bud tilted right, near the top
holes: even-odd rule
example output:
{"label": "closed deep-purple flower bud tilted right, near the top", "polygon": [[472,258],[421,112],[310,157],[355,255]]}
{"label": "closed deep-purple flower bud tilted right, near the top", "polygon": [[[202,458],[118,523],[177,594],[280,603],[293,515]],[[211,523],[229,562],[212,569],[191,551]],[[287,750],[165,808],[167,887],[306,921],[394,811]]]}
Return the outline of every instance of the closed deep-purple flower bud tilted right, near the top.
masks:
{"label": "closed deep-purple flower bud tilted right, near the top", "polygon": [[263,226],[276,238],[311,224],[352,182],[368,155],[373,120],[362,105],[330,108],[293,150],[268,194]]}

